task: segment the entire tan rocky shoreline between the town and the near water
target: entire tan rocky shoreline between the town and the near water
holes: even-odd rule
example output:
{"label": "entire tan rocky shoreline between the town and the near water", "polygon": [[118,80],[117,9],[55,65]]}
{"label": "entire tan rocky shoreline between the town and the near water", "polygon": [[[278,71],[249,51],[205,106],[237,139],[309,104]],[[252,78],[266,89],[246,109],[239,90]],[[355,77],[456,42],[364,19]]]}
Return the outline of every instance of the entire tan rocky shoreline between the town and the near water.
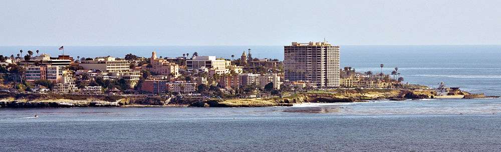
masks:
{"label": "entire tan rocky shoreline between the town and the near water", "polygon": [[[499,97],[458,91],[450,96],[463,98]],[[267,98],[218,98],[201,101],[177,100],[170,96],[0,93],[0,107],[262,107],[292,106],[304,102],[360,102],[367,100],[434,98],[431,89],[331,89],[328,91],[296,92]]]}

